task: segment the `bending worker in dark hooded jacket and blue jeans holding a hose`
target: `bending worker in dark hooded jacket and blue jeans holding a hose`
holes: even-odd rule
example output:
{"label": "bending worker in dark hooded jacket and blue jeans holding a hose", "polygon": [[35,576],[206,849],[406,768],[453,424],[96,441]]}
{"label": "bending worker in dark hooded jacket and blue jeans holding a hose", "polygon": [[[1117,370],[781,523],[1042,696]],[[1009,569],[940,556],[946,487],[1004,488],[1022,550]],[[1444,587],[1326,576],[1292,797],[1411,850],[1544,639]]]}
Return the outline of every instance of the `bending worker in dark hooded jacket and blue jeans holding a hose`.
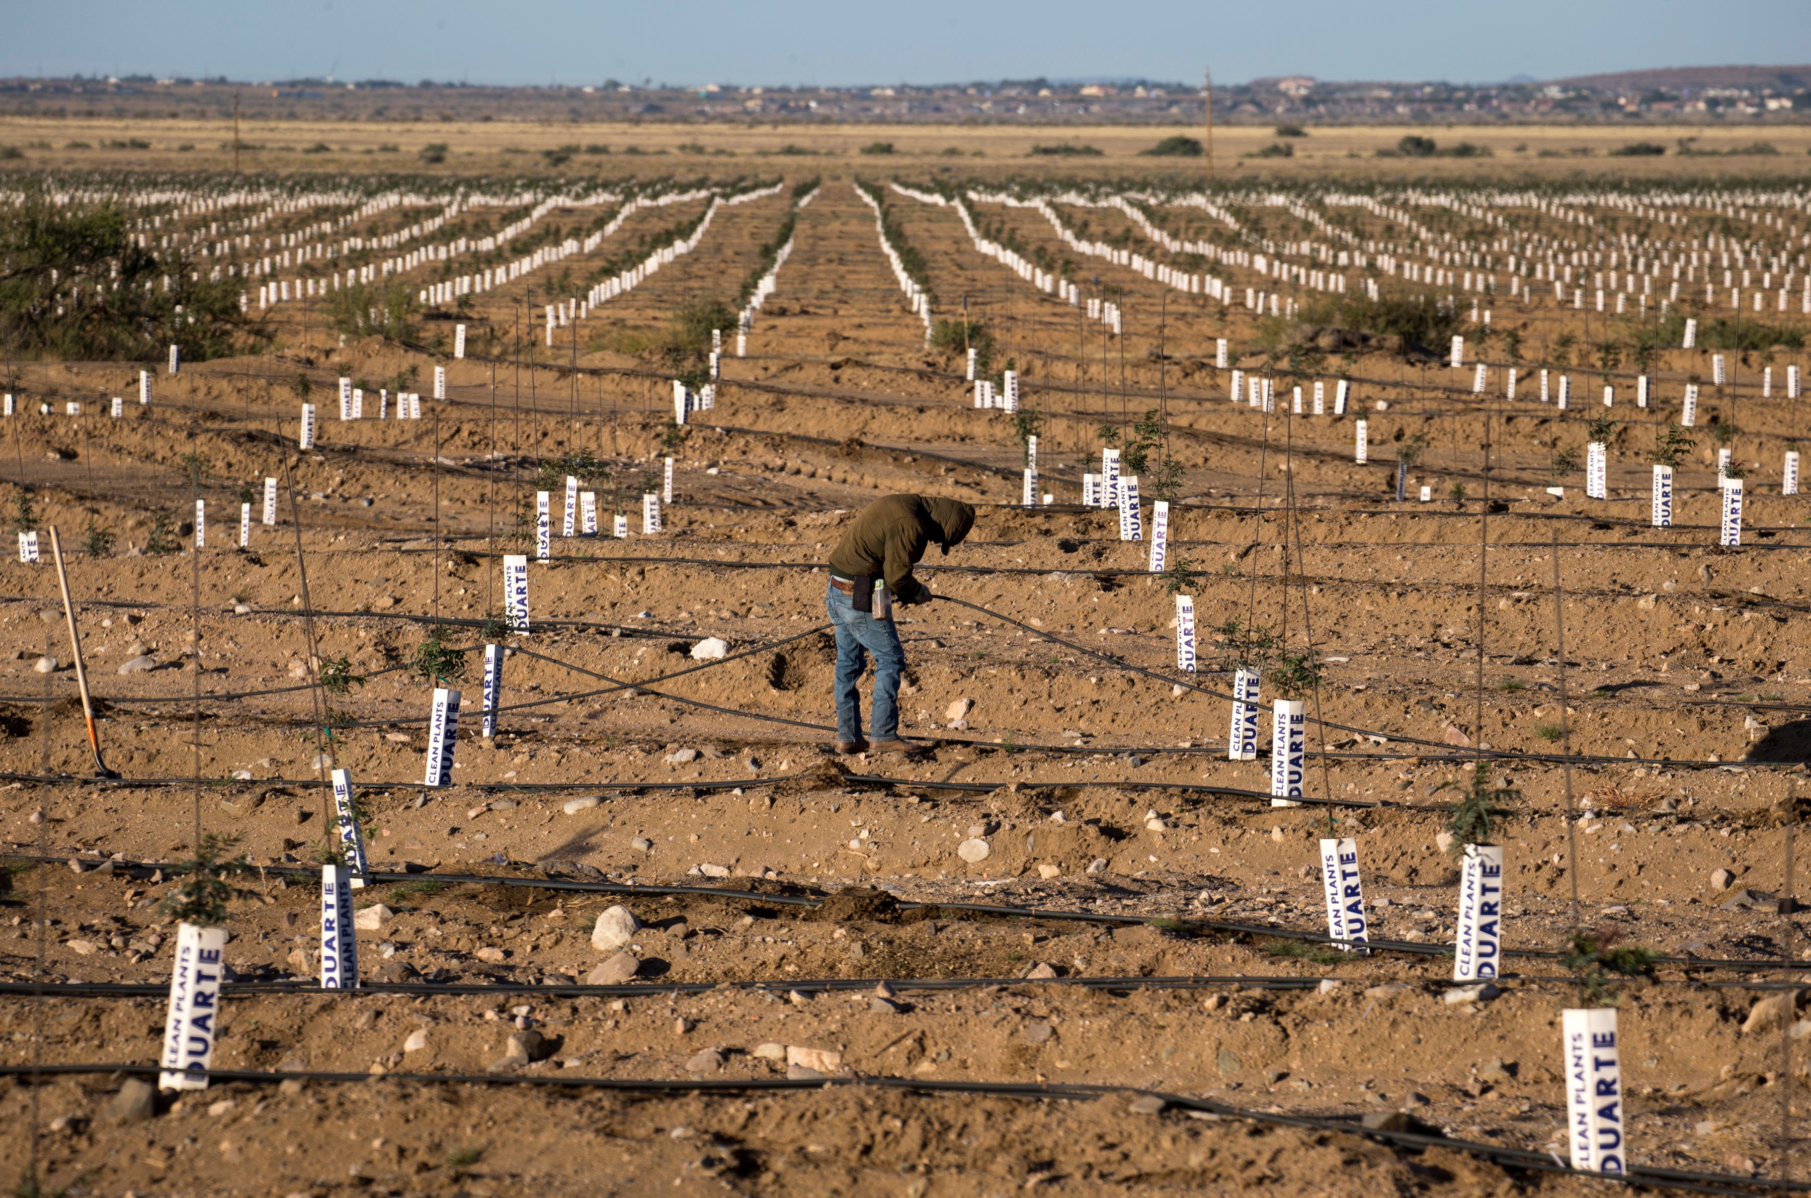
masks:
{"label": "bending worker in dark hooded jacket and blue jeans holding a hose", "polygon": [[[956,499],[887,496],[864,507],[829,556],[824,606],[837,624],[837,751],[906,753],[900,740],[900,671],[906,650],[893,630],[893,604],[929,603],[936,595],[911,568],[929,545],[945,554],[974,527],[974,509]],[[875,657],[873,742],[862,738],[862,695],[857,682]]]}

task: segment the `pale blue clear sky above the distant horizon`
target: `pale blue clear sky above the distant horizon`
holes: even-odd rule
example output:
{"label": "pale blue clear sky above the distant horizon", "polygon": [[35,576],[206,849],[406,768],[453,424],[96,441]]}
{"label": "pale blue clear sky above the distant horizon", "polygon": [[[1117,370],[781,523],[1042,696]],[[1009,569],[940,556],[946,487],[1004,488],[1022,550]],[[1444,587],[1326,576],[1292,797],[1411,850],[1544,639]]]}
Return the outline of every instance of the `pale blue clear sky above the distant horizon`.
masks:
{"label": "pale blue clear sky above the distant horizon", "polygon": [[1811,62],[1804,0],[7,0],[0,76],[1494,81]]}

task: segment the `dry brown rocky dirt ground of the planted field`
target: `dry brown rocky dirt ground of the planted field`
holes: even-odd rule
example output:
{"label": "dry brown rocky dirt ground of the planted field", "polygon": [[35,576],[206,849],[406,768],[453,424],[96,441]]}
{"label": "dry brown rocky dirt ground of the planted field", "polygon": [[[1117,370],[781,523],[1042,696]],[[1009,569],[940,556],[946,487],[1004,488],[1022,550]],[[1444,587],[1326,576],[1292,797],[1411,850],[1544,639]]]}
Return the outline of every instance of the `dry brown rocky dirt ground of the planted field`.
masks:
{"label": "dry brown rocky dirt ground of the planted field", "polygon": [[[36,1127],[40,1176],[69,1194],[1583,1193],[1595,1184],[1449,1147],[1130,1109],[1150,1089],[1355,1129],[1407,1111],[1458,1138],[1565,1155],[1557,1021],[1577,1001],[1572,977],[1518,956],[1501,995],[1451,1003],[1451,961],[1416,952],[1452,936],[1443,787],[1467,784],[1480,742],[1510,755],[1496,771],[1519,791],[1500,825],[1507,946],[1552,954],[1583,923],[1668,957],[1621,988],[1632,1158],[1802,1171],[1782,1135],[1802,1127],[1804,1046],[1782,1035],[1791,1021],[1749,1019],[1757,984],[1811,961],[1775,903],[1793,889],[1811,700],[1806,507],[1778,494],[1802,400],[1760,398],[1757,360],[1735,387],[1706,387],[1706,409],[1739,404],[1733,447],[1755,463],[1744,547],[1720,550],[1708,440],[1681,467],[1675,527],[1646,527],[1659,407],[1619,413],[1608,501],[1585,499],[1577,476],[1552,498],[1550,452],[1583,443],[1583,413],[1478,402],[1440,362],[1362,351],[1315,375],[1355,380],[1385,447],[1356,465],[1353,414],[1266,420],[1226,402],[1213,338],[1266,335],[1242,309],[1159,309],[1154,286],[1101,266],[1132,313],[1123,344],[1107,342],[974,253],[951,210],[891,197],[942,311],[967,295],[996,362],[1027,371],[1056,494],[1027,512],[1012,507],[1007,416],[974,411],[960,357],[922,344],[871,210],[828,179],[750,357],[728,358],[715,407],[676,440],[666,367],[645,346],[676,308],[733,299],[788,203],[782,190],[721,212],[697,253],[532,358],[511,320],[545,284],[482,297],[465,319],[498,329],[496,362],[447,362],[449,398],[424,400],[422,422],[328,413],[311,452],[293,449],[301,376],[328,404],[342,375],[375,389],[415,367],[427,391],[436,358],[340,344],[319,313],[284,311],[277,349],[159,375],[156,402],[125,420],[94,413],[132,395],[136,366],[20,367],[22,414],[0,427],[5,499],[29,496],[71,550],[100,740],[125,778],[91,780],[54,570],[0,565],[0,834],[51,860],[20,858],[0,910],[0,977],[14,986],[4,1064],[156,1059],[161,999],[56,986],[167,983],[174,930],[158,901],[172,879],[154,870],[187,860],[197,829],[237,836],[263,867],[228,921],[235,977],[302,992],[228,986],[216,1066],[295,1075],[281,1086],[223,1080],[120,1122],[118,1073],[16,1079],[0,1098],[18,1129],[9,1180]],[[621,237],[683,215],[639,214]],[[1059,248],[1036,214],[989,219]],[[451,324],[431,317],[429,329]],[[1496,320],[1525,322],[1530,344],[1577,328],[1550,306],[1505,304]],[[572,360],[585,371],[560,369]],[[1661,355],[1668,411],[1702,369],[1701,353]],[[42,416],[40,400],[87,414]],[[1309,733],[1308,793],[1331,805],[1273,809],[1268,760],[1226,760],[1230,675],[1212,632],[1203,671],[1179,675],[1170,579],[1145,574],[1148,548],[1119,541],[1116,518],[1076,507],[1096,427],[1146,409],[1166,413],[1186,467],[1170,552],[1193,570],[1177,581],[1203,630],[1255,621],[1298,646],[1306,621],[1326,662],[1311,715],[1329,727]],[[1414,434],[1431,447],[1411,494],[1465,483],[1469,498],[1393,501],[1387,447]],[[677,494],[665,530],[643,537],[636,496],[663,443]],[[531,632],[503,637],[507,709],[487,740],[476,650],[502,608],[500,554],[532,552],[538,463],[580,451],[596,456],[605,514],[621,496],[637,536],[560,537],[556,485],[552,561],[531,566]],[[205,463],[199,483],[185,456]],[[239,489],[266,476],[281,519],[257,523],[254,501],[239,550]],[[904,731],[925,749],[838,758],[822,561],[857,509],[898,490],[980,505],[969,543],[933,554],[925,577],[985,612],[904,612]],[[196,494],[199,552],[183,527]],[[176,552],[145,552],[158,514]],[[112,554],[76,548],[91,521],[118,532]],[[456,784],[426,789],[431,682],[415,664],[436,619],[462,650],[442,675],[465,715]],[[706,637],[730,659],[694,661]],[[45,655],[56,662],[40,673]],[[120,673],[143,657],[150,668]],[[360,682],[317,689],[311,664],[326,662]],[[319,890],[302,869],[326,840],[328,762],[360,789],[373,869],[420,874],[360,890],[389,912],[359,934],[382,983],[364,994],[306,990]],[[1329,831],[1358,838],[1373,934],[1394,948],[1277,936],[1326,927],[1315,840]],[[958,856],[971,840],[989,854]],[[480,878],[436,878],[449,874]],[[797,903],[810,896],[831,901]],[[643,925],[623,948],[634,990],[560,990],[616,956],[590,937],[614,903]],[[29,997],[40,979],[54,999]],[[819,984],[831,979],[848,984]],[[458,990],[474,984],[494,995]],[[536,1059],[487,1073],[516,1030],[545,1037]],[[920,1088],[728,1086],[784,1079],[773,1044],[819,1050],[831,1082]],[[1126,1089],[934,1088],[962,1082]]]}

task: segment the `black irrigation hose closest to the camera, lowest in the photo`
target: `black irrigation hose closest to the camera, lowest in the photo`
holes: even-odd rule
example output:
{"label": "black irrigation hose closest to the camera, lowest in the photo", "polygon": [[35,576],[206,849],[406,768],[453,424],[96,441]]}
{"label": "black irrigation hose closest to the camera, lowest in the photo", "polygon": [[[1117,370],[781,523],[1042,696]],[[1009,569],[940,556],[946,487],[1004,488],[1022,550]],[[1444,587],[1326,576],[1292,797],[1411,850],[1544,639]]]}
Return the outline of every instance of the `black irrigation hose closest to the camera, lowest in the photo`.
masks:
{"label": "black irrigation hose closest to the camera, lowest in the photo", "polygon": [[[80,1062],[80,1064],[9,1064],[0,1066],[0,1077],[96,1077],[96,1075],[136,1075],[150,1077],[159,1073],[156,1064],[138,1062]],[[1753,1193],[1806,1193],[1811,1182],[1786,1182],[1773,1178],[1739,1176],[1735,1173],[1702,1173],[1690,1169],[1655,1169],[1648,1165],[1630,1165],[1626,1174],[1590,1173],[1563,1164],[1550,1153],[1532,1149],[1505,1147],[1500,1144],[1480,1144],[1476,1140],[1458,1140],[1445,1135],[1423,1135],[1414,1131],[1384,1131],[1364,1127],[1346,1118],[1327,1118],[1315,1115],[1284,1115],[1259,1111],[1251,1108],[1195,1098],[1190,1095],[1145,1089],[1139,1086],[1108,1086],[1083,1082],[936,1082],[906,1077],[820,1077],[820,1079],[618,1079],[618,1077],[561,1077],[561,1075],[522,1075],[522,1073],[331,1073],[326,1070],[264,1071],[264,1070],[190,1070],[205,1073],[210,1082],[244,1082],[270,1086],[290,1080],[308,1082],[350,1082],[369,1086],[373,1082],[400,1082],[406,1086],[536,1086],[547,1089],[603,1089],[636,1095],[721,1095],[721,1093],[759,1093],[759,1091],[822,1091],[840,1088],[895,1089],[902,1093],[925,1095],[980,1095],[1000,1098],[1067,1098],[1090,1102],[1110,1095],[1154,1097],[1166,1108],[1181,1111],[1201,1111],[1221,1118],[1239,1118],[1277,1127],[1298,1127],[1306,1131],[1340,1133],[1365,1136],[1405,1149],[1442,1147],[1471,1156],[1480,1156],[1510,1169],[1528,1169],[1538,1173],[1568,1174],[1624,1185],[1652,1185],[1657,1189],[1681,1189],[1701,1194],[1753,1194]],[[1739,1189],[1730,1189],[1739,1187]]]}

